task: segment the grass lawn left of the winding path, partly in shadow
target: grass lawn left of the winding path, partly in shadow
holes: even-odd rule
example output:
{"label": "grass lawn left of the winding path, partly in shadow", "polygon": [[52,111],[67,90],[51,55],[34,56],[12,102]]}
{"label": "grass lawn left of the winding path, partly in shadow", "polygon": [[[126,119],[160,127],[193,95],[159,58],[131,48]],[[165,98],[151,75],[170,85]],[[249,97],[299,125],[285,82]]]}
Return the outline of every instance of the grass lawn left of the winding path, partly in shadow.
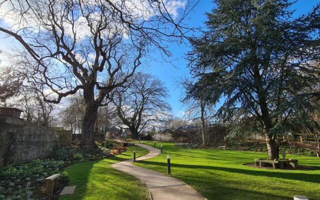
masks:
{"label": "grass lawn left of the winding path, partly in shadow", "polygon": [[75,192],[59,199],[149,199],[140,180],[111,167],[114,162],[132,158],[134,149],[137,157],[148,153],[144,148],[130,146],[114,157],[68,166],[65,170],[69,174],[69,185],[76,185]]}

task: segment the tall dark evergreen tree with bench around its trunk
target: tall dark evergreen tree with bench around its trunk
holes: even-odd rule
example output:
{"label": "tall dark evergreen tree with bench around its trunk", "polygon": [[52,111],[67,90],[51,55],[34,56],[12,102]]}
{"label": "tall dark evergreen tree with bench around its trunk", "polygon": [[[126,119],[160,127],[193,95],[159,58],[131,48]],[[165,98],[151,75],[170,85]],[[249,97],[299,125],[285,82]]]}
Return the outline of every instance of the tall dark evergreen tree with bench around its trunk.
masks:
{"label": "tall dark evergreen tree with bench around its trunk", "polygon": [[[191,38],[189,68],[202,91],[219,102],[217,117],[235,124],[232,133],[262,131],[270,159],[274,134],[288,119],[312,109],[309,95],[319,84],[318,4],[293,18],[288,0],[214,0],[202,36]],[[201,87],[197,87],[201,85]]]}

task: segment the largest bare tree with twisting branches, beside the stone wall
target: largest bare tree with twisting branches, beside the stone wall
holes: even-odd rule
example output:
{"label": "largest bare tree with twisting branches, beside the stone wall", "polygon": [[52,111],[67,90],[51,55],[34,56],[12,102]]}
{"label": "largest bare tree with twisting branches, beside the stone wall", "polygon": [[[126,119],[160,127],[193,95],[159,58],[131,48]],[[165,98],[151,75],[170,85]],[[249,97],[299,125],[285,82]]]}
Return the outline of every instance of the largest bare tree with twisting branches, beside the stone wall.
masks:
{"label": "largest bare tree with twisting branches, beside the stone wall", "polygon": [[[82,147],[96,147],[97,110],[146,52],[181,40],[188,3],[175,0],[0,0],[0,31],[23,49],[15,61],[47,102],[82,91]],[[186,8],[177,18],[177,9]],[[49,91],[49,92],[47,92]]]}

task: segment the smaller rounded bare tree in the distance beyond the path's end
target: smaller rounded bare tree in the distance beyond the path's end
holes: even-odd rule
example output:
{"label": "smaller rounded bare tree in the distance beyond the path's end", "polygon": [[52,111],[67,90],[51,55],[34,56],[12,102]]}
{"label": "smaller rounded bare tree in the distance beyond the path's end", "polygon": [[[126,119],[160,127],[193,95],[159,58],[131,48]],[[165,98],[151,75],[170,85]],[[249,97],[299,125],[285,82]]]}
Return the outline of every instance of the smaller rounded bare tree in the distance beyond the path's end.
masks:
{"label": "smaller rounded bare tree in the distance beyond the path's end", "polygon": [[171,109],[167,97],[167,89],[160,79],[139,72],[132,76],[126,89],[114,93],[112,101],[122,123],[137,138],[143,128],[167,118]]}

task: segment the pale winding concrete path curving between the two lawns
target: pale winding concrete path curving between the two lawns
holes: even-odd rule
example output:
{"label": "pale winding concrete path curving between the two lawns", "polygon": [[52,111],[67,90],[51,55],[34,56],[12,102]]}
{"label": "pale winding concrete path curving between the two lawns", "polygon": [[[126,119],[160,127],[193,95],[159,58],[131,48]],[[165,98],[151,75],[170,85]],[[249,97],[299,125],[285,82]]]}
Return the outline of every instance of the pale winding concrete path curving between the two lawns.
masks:
{"label": "pale winding concrete path curving between the two lawns", "polygon": [[[143,160],[154,157],[160,154],[160,150],[153,148],[145,144],[135,144],[140,147],[149,150],[149,153],[141,157],[136,158],[136,160]],[[116,162],[112,164],[112,167],[133,175],[140,180],[142,180],[149,192],[151,193],[152,200],[203,200],[205,198],[201,197],[194,189],[184,182],[159,173],[150,169],[134,166],[132,164],[133,159]]]}

